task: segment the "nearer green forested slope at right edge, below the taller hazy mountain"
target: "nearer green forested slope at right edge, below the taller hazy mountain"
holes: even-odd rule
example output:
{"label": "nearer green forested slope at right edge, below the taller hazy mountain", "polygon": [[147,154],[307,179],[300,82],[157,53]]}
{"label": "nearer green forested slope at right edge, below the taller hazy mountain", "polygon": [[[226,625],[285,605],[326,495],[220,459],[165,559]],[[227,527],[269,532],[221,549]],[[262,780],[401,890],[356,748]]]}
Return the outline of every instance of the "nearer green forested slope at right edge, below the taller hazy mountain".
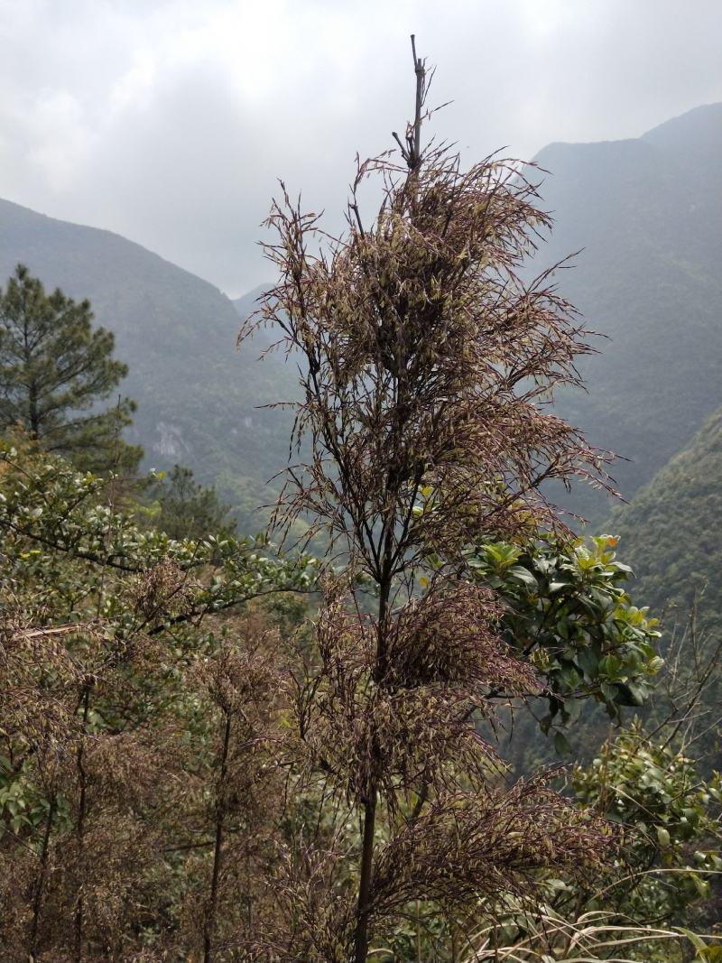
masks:
{"label": "nearer green forested slope at right edge, below the taller hazy mountain", "polygon": [[722,407],[631,505],[613,512],[608,527],[621,536],[619,551],[636,572],[640,604],[666,608],[670,617],[676,607],[684,619],[697,593],[703,623],[719,625]]}

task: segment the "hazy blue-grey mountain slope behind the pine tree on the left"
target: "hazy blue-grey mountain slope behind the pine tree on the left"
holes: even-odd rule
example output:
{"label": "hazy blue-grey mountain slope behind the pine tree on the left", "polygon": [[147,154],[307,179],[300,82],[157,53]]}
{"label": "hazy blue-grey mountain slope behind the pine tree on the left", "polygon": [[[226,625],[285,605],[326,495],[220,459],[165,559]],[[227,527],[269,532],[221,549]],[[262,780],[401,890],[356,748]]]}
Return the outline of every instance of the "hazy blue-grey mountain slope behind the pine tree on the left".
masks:
{"label": "hazy blue-grey mountain slope behind the pine tree on the left", "polygon": [[285,464],[289,419],[257,405],[286,397],[293,375],[280,356],[257,361],[258,345],[236,351],[239,318],[229,299],[116,234],[0,201],[3,283],[18,261],[47,287],[88,297],[97,323],[116,332],[146,465],[191,465],[244,515],[268,501],[263,483]]}

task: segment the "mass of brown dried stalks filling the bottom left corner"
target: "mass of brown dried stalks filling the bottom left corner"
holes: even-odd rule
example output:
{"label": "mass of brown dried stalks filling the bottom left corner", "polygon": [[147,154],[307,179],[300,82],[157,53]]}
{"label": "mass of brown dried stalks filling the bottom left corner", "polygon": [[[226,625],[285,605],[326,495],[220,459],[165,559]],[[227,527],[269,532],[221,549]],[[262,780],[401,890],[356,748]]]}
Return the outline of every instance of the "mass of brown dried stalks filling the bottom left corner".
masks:
{"label": "mass of brown dried stalks filling the bottom left corner", "polygon": [[[168,615],[177,589],[157,566],[129,612]],[[0,755],[31,818],[0,807],[0,959],[238,958],[271,912],[276,633],[229,617],[181,654],[21,614],[0,633]]]}

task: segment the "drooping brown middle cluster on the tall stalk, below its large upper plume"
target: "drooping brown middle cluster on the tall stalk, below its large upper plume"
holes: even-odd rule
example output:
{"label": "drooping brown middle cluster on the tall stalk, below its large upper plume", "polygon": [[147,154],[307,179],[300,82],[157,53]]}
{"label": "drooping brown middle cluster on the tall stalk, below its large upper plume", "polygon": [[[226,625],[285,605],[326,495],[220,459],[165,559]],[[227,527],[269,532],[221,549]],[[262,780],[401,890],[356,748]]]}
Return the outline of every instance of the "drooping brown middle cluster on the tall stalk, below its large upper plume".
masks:
{"label": "drooping brown middle cluster on the tall stalk, below its large upper plume", "polygon": [[329,773],[353,804],[375,786],[393,812],[400,788],[441,787],[459,768],[488,768],[495,754],[476,714],[488,714],[491,691],[538,686],[529,664],[494,635],[490,593],[457,583],[401,608],[389,620],[380,678],[376,620],[347,601],[329,586],[316,624],[320,664],[297,686],[307,764]]}

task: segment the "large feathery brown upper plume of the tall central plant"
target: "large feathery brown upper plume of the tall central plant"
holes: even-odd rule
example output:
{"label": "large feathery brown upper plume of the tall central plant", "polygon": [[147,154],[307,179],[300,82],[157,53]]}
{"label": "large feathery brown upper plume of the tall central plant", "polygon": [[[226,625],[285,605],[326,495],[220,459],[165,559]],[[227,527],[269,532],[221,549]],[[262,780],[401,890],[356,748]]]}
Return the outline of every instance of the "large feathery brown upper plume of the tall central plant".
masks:
{"label": "large feathery brown upper plume of the tall central plant", "polygon": [[[552,271],[518,273],[550,223],[534,186],[510,162],[463,172],[439,148],[405,178],[388,157],[367,161],[354,196],[379,172],[373,226],[349,218],[317,254],[319,218],[284,192],[267,247],[281,281],[254,322],[277,325],[307,363],[296,436],[313,457],[289,470],[279,520],[307,512],[376,581],[386,537],[397,574],[429,550],[555,525],[541,483],[604,483],[606,457],[548,408],[590,349]],[[426,485],[438,500],[419,516]]]}

